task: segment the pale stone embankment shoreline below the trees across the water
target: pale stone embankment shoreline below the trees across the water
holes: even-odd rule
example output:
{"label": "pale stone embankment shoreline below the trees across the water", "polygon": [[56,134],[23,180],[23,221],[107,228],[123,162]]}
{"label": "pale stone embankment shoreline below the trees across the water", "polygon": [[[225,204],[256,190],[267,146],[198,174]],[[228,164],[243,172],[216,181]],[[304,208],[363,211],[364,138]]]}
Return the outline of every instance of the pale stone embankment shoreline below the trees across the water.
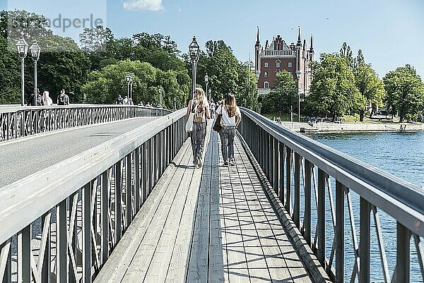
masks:
{"label": "pale stone embankment shoreline below the trees across the water", "polygon": [[300,133],[343,133],[343,132],[417,132],[424,131],[424,124],[336,124],[275,122],[285,128]]}

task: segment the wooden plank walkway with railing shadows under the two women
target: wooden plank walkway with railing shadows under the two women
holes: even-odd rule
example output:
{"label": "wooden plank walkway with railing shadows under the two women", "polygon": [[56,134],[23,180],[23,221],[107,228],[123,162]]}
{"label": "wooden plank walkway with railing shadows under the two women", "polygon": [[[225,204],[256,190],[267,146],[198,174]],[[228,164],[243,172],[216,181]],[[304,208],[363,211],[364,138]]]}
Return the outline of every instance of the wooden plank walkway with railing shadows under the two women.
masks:
{"label": "wooden plank walkway with railing shadows under the two women", "polygon": [[240,140],[235,160],[212,132],[197,169],[184,143],[95,283],[312,282]]}

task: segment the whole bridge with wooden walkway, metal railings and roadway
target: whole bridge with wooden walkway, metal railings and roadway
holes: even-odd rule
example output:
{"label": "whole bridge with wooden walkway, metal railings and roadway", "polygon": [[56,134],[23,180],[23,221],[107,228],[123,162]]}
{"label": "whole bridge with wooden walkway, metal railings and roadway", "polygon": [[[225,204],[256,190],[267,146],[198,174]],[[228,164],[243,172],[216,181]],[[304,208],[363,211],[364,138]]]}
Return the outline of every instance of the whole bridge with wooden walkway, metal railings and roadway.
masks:
{"label": "whole bridge with wooden walkway, metal railings and roadway", "polygon": [[[235,166],[222,166],[209,130],[201,169],[192,166],[184,109],[0,114],[2,154],[64,131],[111,136],[2,183],[1,283],[423,280],[422,189],[249,109]],[[143,125],[106,130],[130,121]],[[1,171],[8,162],[19,164],[9,156]],[[396,239],[384,237],[381,213],[394,220]]]}

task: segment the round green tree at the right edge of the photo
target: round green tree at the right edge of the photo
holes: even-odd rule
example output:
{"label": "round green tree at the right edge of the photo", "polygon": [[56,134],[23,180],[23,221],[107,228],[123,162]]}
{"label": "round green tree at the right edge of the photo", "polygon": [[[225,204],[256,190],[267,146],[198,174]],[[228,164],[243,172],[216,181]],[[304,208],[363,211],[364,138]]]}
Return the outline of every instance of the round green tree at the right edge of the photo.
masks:
{"label": "round green tree at the right edge of the photo", "polygon": [[424,84],[416,70],[410,65],[396,68],[384,76],[383,82],[391,114],[399,114],[400,123],[417,119],[423,111]]}

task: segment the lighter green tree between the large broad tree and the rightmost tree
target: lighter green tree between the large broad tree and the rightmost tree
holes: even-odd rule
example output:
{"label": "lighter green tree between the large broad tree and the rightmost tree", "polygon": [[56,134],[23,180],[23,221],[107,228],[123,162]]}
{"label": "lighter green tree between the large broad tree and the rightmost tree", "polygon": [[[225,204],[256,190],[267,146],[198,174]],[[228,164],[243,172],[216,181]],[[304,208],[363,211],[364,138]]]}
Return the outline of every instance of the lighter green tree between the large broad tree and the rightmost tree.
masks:
{"label": "lighter green tree between the large broad tree and the rightmost tree", "polygon": [[[371,66],[365,64],[365,61],[358,61],[358,66],[353,70],[355,74],[356,88],[365,99],[367,100],[366,105],[371,107],[370,118],[372,114],[376,112],[377,107],[383,106],[384,96],[386,91],[384,90],[384,83],[377,76],[377,73],[371,68]],[[365,114],[365,108],[360,109],[359,116],[360,121],[363,121]]]}

